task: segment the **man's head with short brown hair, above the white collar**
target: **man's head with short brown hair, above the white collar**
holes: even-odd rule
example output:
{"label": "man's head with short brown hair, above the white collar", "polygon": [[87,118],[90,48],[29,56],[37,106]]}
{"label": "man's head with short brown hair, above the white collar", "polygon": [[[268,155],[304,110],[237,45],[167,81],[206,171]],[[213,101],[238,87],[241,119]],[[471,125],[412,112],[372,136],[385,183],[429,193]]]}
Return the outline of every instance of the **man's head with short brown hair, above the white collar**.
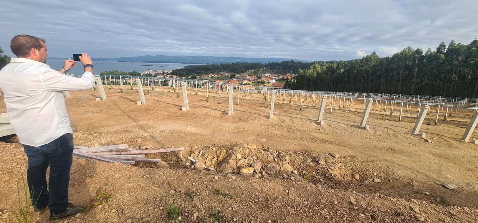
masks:
{"label": "man's head with short brown hair, above the white collar", "polygon": [[30,56],[30,50],[32,48],[42,49],[42,42],[44,43],[45,40],[35,36],[17,35],[11,39],[11,52],[15,53],[18,57],[28,57]]}

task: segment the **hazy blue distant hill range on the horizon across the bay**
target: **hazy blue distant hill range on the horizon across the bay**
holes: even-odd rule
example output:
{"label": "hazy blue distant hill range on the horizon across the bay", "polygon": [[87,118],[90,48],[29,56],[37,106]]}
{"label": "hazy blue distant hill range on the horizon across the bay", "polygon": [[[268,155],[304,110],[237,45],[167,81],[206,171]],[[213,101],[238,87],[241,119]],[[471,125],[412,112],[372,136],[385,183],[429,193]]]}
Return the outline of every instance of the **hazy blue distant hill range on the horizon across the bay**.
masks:
{"label": "hazy blue distant hill range on the horizon across the bay", "polygon": [[142,62],[142,63],[181,63],[181,64],[231,64],[236,62],[247,63],[269,63],[282,61],[300,61],[311,62],[299,59],[285,58],[247,58],[235,56],[166,56],[166,55],[144,55],[144,56],[127,56],[119,58],[91,58],[97,61],[122,61],[122,62]]}

